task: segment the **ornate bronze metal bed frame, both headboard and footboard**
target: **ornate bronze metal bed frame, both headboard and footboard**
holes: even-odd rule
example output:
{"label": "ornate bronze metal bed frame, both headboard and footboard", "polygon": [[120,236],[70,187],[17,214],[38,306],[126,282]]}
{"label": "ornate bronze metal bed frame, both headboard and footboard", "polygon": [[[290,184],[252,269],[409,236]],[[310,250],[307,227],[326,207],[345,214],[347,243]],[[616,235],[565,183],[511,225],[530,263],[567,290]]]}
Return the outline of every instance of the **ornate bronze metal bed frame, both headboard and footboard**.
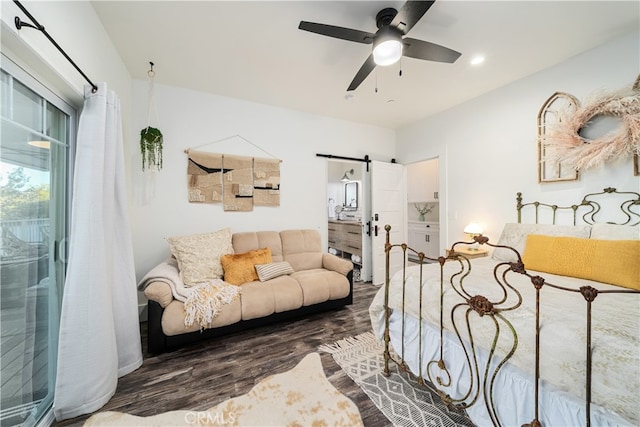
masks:
{"label": "ornate bronze metal bed frame, both headboard and footboard", "polygon": [[[605,213],[603,211],[603,202],[600,202],[600,198],[609,198],[608,200],[612,200],[610,196],[615,196],[613,199],[618,200],[619,206],[616,211],[618,212],[618,216],[621,212],[621,219],[617,221],[608,221],[604,218]],[[558,206],[554,204],[545,204],[540,202],[522,202],[522,193],[517,193],[516,197],[516,209],[518,216],[518,223],[522,221],[522,211],[525,208],[532,208],[534,210],[535,223],[538,224],[539,213],[541,210],[550,210],[551,212],[551,223],[556,224],[557,213],[568,211],[570,216],[573,218],[573,224],[576,225],[578,219],[581,219],[586,224],[595,224],[598,223],[609,223],[609,224],[619,224],[619,225],[637,225],[640,223],[640,194],[637,192],[619,192],[615,188],[605,188],[602,192],[599,193],[590,193],[584,196],[582,201],[578,204],[569,205],[569,206]],[[598,220],[597,220],[597,219]],[[572,289],[564,286],[559,286],[553,283],[548,282],[544,277],[539,275],[532,275],[527,272],[524,263],[522,262],[522,258],[520,253],[514,248],[503,245],[495,245],[489,242],[489,238],[485,236],[475,236],[472,242],[456,242],[452,245],[451,250],[448,252],[448,256],[446,257],[438,257],[429,258],[426,257],[423,253],[417,252],[414,249],[408,247],[405,243],[402,244],[391,244],[390,239],[390,230],[391,227],[389,225],[385,226],[386,234],[386,244],[385,244],[385,252],[386,252],[386,277],[385,277],[385,311],[384,311],[384,321],[385,321],[385,330],[384,330],[384,374],[389,375],[389,363],[396,363],[401,371],[407,372],[410,375],[409,369],[405,360],[397,354],[392,354],[391,346],[390,346],[390,333],[389,333],[389,324],[390,324],[390,316],[392,313],[392,309],[389,307],[389,284],[390,284],[390,274],[389,274],[389,260],[390,253],[393,249],[400,249],[403,252],[404,256],[404,264],[402,267],[402,283],[406,283],[406,267],[407,267],[407,252],[413,254],[414,257],[418,259],[418,263],[420,264],[419,268],[419,280],[420,283],[423,283],[423,266],[426,263],[439,263],[440,264],[440,342],[439,343],[431,343],[431,345],[439,346],[439,358],[437,360],[431,360],[427,363],[427,380],[422,376],[423,362],[422,357],[419,358],[419,375],[415,378],[416,381],[422,385],[433,389],[437,392],[442,400],[449,406],[457,408],[457,409],[466,409],[471,405],[478,403],[480,398],[480,391],[483,391],[484,404],[487,408],[489,416],[492,420],[492,423],[495,426],[502,425],[500,420],[498,419],[498,414],[496,411],[496,402],[494,401],[493,390],[496,377],[502,367],[509,361],[509,359],[513,356],[518,346],[518,335],[516,333],[515,328],[512,323],[509,321],[509,312],[512,312],[522,304],[522,295],[520,292],[510,284],[509,282],[509,274],[515,273],[528,277],[531,281],[531,285],[535,289],[535,324],[532,325],[532,328],[535,328],[535,413],[532,414],[533,419],[529,422],[523,424],[523,426],[527,427],[540,427],[542,423],[539,421],[539,391],[540,391],[540,360],[542,357],[540,351],[540,319],[542,315],[542,308],[540,305],[540,297],[541,294],[544,293],[544,290],[547,288],[554,288],[561,290],[563,292],[571,292],[571,293],[579,293],[583,296],[585,307],[584,310],[586,312],[586,323],[585,323],[585,334],[586,334],[586,348],[585,348],[585,362],[586,362],[586,378],[585,378],[585,409],[586,409],[586,420],[585,424],[587,426],[591,425],[591,381],[592,381],[592,360],[591,360],[591,339],[592,339],[592,311],[594,306],[596,305],[596,300],[599,302],[601,300],[606,300],[606,295],[609,294],[630,294],[632,296],[640,296],[640,291],[632,290],[632,289],[597,289],[592,286],[583,286],[579,289]],[[463,254],[459,254],[455,252],[456,247],[464,246],[464,245],[472,245],[472,244],[480,244],[487,245],[491,248],[504,248],[510,251],[513,251],[517,257],[516,262],[498,262],[496,261],[496,266],[494,269],[494,279],[496,285],[499,286],[502,298],[498,299],[490,299],[483,295],[472,295],[465,289],[465,284],[469,282],[465,282],[470,276],[472,265],[469,262],[469,259],[466,258]],[[454,262],[459,264],[459,270],[455,274],[453,274],[450,280],[445,281],[443,279],[444,275],[443,266],[446,262]],[[472,280],[471,278],[468,279]],[[438,386],[448,387],[453,378],[449,370],[447,369],[447,363],[443,357],[443,333],[444,333],[444,323],[443,319],[446,314],[443,312],[443,294],[445,287],[451,287],[459,296],[460,302],[456,304],[450,315],[451,320],[453,321],[453,326],[455,330],[455,334],[457,335],[457,339],[459,340],[462,348],[464,350],[464,356],[466,358],[466,363],[469,368],[469,372],[471,373],[470,385],[466,393],[464,393],[461,397],[452,397],[449,396],[446,392],[439,389]],[[422,354],[423,345],[427,345],[422,342],[422,299],[423,299],[423,286],[419,286],[419,295],[417,296],[419,301],[419,313],[420,318],[418,319],[419,331],[418,331],[418,347],[420,354]],[[402,289],[402,311],[404,312],[405,301],[407,298],[415,298],[414,295],[406,295],[405,287],[403,285]],[[455,314],[456,312],[463,312],[465,321],[463,324],[459,324],[461,322],[456,321]],[[478,360],[477,353],[477,344],[473,339],[473,332],[471,329],[471,323],[477,321],[478,317],[484,317],[491,320],[490,323],[493,324],[494,329],[494,339],[491,343],[489,350],[489,359],[484,366],[481,366],[481,363]],[[465,340],[462,336],[461,331],[466,331],[467,339]],[[404,333],[405,333],[405,320],[403,316],[402,320],[402,349],[400,349],[399,354],[405,354],[404,349]],[[496,343],[498,342],[498,337],[501,333],[510,334],[511,339],[513,341],[513,345],[507,352],[507,354],[502,357],[500,360],[495,360],[495,357],[498,357],[496,352]],[[546,359],[545,359],[546,360]],[[432,374],[432,371],[438,372],[437,374]],[[483,373],[484,379],[480,380],[480,374]]]}

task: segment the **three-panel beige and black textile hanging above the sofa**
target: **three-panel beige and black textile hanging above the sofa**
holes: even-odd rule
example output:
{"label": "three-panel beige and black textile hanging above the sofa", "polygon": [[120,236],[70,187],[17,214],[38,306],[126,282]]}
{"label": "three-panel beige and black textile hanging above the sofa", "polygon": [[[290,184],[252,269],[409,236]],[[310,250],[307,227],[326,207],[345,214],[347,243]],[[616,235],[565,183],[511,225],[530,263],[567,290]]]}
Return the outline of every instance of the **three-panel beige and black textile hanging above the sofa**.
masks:
{"label": "three-panel beige and black textile hanging above the sofa", "polygon": [[281,160],[256,144],[234,135],[205,145],[232,138],[251,144],[271,158],[185,150],[189,159],[187,182],[190,203],[222,203],[225,211],[247,212],[254,206],[280,206]]}

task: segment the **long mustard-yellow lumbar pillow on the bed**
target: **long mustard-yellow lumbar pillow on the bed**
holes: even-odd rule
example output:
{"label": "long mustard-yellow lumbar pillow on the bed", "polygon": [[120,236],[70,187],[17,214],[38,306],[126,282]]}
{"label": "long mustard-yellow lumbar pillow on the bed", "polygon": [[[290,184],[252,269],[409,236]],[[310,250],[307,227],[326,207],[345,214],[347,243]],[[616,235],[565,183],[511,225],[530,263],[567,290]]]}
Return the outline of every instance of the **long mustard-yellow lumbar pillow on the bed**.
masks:
{"label": "long mustard-yellow lumbar pillow on the bed", "polygon": [[527,270],[640,290],[640,240],[597,240],[530,234]]}

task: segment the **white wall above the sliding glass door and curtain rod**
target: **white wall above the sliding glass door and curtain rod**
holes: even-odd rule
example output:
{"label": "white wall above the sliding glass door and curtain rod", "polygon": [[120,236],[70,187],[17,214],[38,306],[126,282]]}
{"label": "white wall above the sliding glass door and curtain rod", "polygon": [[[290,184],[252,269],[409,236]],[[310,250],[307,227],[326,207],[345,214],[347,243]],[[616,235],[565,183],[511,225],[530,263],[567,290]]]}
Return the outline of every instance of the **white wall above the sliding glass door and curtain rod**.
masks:
{"label": "white wall above the sliding glass door and curtain rod", "polygon": [[[45,27],[47,33],[94,83],[106,82],[120,98],[125,150],[133,141],[130,133],[131,76],[116,52],[102,22],[88,1],[22,1],[22,5]],[[82,75],[42,34],[32,28],[18,31],[14,17],[29,18],[10,1],[2,1],[2,51],[47,83],[63,98],[82,106]]]}

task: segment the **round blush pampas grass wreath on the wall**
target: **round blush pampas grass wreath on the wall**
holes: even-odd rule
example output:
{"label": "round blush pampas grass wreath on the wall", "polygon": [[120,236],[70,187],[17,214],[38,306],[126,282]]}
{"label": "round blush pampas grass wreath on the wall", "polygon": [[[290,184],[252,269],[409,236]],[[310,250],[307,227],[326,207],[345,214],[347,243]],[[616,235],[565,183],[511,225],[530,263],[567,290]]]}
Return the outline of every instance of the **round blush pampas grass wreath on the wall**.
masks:
{"label": "round blush pampas grass wreath on the wall", "polygon": [[[586,139],[580,131],[598,116],[613,116],[620,126],[596,139]],[[607,161],[640,154],[640,89],[637,84],[595,97],[572,112],[560,112],[560,120],[549,126],[541,143],[553,150],[558,162],[587,170]]]}

